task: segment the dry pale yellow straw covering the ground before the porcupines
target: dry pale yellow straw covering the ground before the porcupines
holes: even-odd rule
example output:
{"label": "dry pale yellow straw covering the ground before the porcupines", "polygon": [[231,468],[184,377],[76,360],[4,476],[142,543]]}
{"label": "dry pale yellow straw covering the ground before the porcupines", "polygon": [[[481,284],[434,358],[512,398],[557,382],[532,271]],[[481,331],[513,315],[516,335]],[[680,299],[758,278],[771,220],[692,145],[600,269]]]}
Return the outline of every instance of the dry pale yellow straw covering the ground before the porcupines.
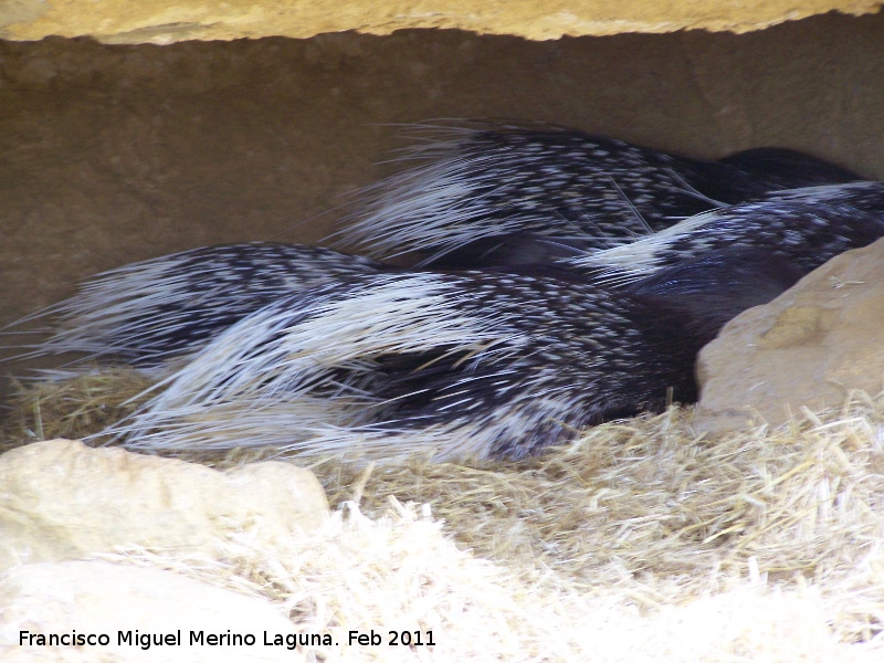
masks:
{"label": "dry pale yellow straw covering the ground before the porcupines", "polygon": [[[31,390],[8,438],[33,432],[36,401],[45,436],[48,412],[119,407],[96,400],[122,391],[106,383],[88,407],[66,389],[59,409]],[[884,397],[714,440],[673,409],[527,462],[313,470],[338,507],[322,532],[116,559],[266,597],[341,643],[303,649],[318,661],[884,660]],[[344,644],[371,628],[436,644]]]}

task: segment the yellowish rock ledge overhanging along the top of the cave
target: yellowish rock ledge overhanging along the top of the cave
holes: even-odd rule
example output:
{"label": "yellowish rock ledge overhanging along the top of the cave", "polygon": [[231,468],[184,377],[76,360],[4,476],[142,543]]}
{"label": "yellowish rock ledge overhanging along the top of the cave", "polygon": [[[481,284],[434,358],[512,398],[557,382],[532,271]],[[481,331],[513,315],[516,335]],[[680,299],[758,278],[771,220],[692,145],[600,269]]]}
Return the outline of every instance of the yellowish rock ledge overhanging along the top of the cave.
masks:
{"label": "yellowish rock ledge overhanging along the top of the cave", "polygon": [[709,0],[632,2],[559,2],[511,0],[484,4],[464,0],[424,3],[294,2],[228,0],[18,0],[0,7],[0,38],[40,39],[50,34],[91,35],[106,43],[168,44],[192,39],[283,35],[306,38],[358,30],[389,34],[408,28],[456,28],[480,33],[557,39],[564,34],[673,32],[685,28],[746,32],[832,10],[875,11],[877,0],[814,0],[720,3]]}

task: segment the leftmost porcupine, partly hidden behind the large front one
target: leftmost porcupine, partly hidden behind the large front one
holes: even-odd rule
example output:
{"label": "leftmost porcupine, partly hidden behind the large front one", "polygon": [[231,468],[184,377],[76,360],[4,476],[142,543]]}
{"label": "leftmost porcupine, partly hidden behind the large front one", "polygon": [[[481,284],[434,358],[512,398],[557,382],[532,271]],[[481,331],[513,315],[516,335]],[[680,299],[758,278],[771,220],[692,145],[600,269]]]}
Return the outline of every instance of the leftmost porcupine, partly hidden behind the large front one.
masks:
{"label": "leftmost porcupine, partly hidden behind the large front one", "polygon": [[75,296],[27,318],[54,316],[51,336],[31,354],[156,366],[282,296],[385,269],[329,249],[267,242],[164,255],[93,276]]}

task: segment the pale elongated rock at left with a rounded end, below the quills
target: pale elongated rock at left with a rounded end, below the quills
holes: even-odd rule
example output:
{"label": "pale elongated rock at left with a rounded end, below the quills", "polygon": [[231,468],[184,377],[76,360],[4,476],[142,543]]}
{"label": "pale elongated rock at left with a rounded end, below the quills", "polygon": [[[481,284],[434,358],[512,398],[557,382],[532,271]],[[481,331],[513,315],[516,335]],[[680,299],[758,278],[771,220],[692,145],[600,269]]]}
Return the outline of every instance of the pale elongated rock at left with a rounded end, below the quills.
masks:
{"label": "pale elongated rock at left with a rounded end, below the quills", "polygon": [[0,569],[136,544],[192,552],[249,529],[311,530],[328,503],[312,472],[266,462],[228,472],[53,440],[0,456]]}

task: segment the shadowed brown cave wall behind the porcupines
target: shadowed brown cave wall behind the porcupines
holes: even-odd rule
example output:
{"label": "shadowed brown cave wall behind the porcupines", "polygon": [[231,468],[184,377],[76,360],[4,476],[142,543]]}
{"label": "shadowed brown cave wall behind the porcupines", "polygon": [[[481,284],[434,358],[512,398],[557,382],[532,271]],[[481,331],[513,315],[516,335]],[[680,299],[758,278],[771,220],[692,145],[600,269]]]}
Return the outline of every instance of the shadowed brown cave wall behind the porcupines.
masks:
{"label": "shadowed brown cave wall behind the porcupines", "polygon": [[397,123],[540,119],[702,157],[777,145],[884,179],[882,81],[882,14],[546,42],[0,42],[0,325],[126,262],[319,240],[389,170]]}

